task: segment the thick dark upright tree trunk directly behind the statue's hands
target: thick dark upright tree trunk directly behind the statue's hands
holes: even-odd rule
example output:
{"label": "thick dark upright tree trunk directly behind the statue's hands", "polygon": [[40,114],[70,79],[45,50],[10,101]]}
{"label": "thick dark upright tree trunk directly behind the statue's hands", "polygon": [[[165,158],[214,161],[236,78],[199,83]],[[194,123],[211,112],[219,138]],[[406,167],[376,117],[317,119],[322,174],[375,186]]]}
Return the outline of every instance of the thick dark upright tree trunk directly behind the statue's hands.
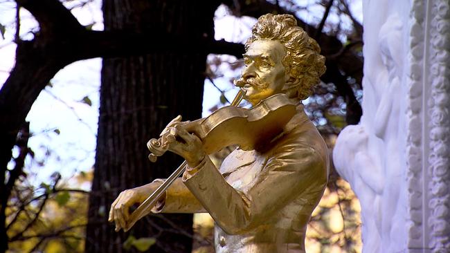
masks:
{"label": "thick dark upright tree trunk directly behind the statue's hands", "polygon": [[[213,39],[217,6],[215,2],[105,0],[105,30]],[[206,55],[185,48],[182,53],[104,59],[87,252],[125,252],[123,241],[129,235],[156,238],[151,252],[191,251],[192,215],[147,216],[125,234],[114,232],[107,215],[120,191],[168,177],[181,163],[172,154],[150,163],[146,142],[179,114],[185,120],[201,116]]]}

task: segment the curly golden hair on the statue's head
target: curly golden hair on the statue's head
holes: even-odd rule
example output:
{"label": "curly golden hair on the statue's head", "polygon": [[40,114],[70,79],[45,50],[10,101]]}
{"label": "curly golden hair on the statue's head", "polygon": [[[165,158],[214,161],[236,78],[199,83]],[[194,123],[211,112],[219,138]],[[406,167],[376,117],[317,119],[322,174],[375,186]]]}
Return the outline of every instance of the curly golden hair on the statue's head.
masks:
{"label": "curly golden hair on the statue's head", "polygon": [[305,100],[312,88],[325,73],[325,57],[320,55],[317,42],[297,26],[292,15],[262,15],[252,28],[252,36],[246,41],[245,49],[258,39],[278,40],[285,46],[287,54],[282,60],[290,78],[283,87],[289,97]]}

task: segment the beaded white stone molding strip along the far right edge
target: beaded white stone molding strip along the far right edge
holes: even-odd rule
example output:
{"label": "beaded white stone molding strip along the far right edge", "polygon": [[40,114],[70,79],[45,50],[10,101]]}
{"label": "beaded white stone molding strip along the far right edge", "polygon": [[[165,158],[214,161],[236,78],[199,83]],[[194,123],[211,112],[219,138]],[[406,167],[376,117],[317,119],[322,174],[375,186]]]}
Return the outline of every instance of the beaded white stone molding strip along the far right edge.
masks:
{"label": "beaded white stone molding strip along the far right edge", "polygon": [[[417,1],[421,2],[421,1]],[[426,1],[413,5],[424,10],[422,64],[423,244],[431,252],[450,252],[450,1]],[[420,21],[417,20],[417,23]],[[411,36],[413,37],[413,36]],[[410,135],[412,135],[411,133]],[[408,136],[409,137],[409,136]],[[413,182],[410,180],[410,183]],[[412,196],[412,195],[411,195]],[[413,232],[411,230],[411,232]]]}

